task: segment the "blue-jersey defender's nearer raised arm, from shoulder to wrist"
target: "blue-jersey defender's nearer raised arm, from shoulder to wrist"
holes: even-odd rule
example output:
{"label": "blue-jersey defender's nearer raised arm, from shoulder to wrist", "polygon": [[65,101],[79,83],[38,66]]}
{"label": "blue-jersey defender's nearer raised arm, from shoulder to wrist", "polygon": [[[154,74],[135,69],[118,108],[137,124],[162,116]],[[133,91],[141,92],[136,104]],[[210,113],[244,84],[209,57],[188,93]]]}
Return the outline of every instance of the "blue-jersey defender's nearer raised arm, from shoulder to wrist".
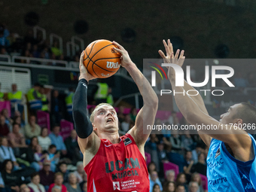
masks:
{"label": "blue-jersey defender's nearer raised arm, from shoulder to wrist", "polygon": [[[181,58],[180,56],[179,59],[184,59],[184,57]],[[178,59],[178,62],[180,62],[179,59]],[[237,153],[237,156],[235,154],[237,159],[245,160],[241,154],[247,154],[245,151],[248,151],[251,147],[250,136],[248,136],[245,130],[234,129],[235,128],[234,126],[221,123],[218,120],[215,120],[213,117],[210,117],[209,114],[206,114],[205,112],[203,112],[201,108],[197,105],[197,103],[193,99],[191,99],[190,96],[186,94],[186,92],[184,91],[184,87],[175,86],[175,71],[171,67],[169,67],[168,69],[168,78],[172,84],[173,93],[174,92],[185,93],[184,95],[174,94],[174,96],[175,96],[175,102],[179,110],[181,111],[181,113],[184,115],[187,122],[195,126],[211,125],[211,126],[217,126],[217,127],[224,127],[225,129],[223,130],[217,130],[219,131],[218,134],[209,132],[209,130],[202,130],[202,133],[207,134],[212,138],[221,140],[224,143],[227,143],[227,145],[230,146],[230,148],[232,149],[232,151],[234,151],[234,153],[236,153],[236,151],[239,151],[239,153]],[[236,125],[238,125],[239,123],[242,123],[242,120],[234,119],[233,124],[235,123]]]}

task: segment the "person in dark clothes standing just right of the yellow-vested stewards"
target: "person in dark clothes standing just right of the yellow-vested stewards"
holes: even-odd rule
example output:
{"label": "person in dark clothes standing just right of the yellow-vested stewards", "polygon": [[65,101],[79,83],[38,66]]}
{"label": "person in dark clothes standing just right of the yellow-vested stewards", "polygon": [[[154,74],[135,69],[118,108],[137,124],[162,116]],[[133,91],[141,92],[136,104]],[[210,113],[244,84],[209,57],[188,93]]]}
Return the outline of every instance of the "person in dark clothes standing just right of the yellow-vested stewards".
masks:
{"label": "person in dark clothes standing just right of the yellow-vested stewards", "polygon": [[50,112],[51,112],[51,121],[52,124],[59,124],[60,120],[62,119],[62,102],[59,99],[59,91],[53,90],[52,98],[51,98],[51,105],[50,105]]}

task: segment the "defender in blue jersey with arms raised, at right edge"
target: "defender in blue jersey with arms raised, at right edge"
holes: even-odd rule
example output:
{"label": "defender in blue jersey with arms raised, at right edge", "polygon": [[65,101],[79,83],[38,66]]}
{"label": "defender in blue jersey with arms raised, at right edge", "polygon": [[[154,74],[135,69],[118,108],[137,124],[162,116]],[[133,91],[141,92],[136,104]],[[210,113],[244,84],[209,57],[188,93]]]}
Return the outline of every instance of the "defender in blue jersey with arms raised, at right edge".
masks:
{"label": "defender in blue jersey with arms raised, at right edge", "polygon": [[[178,59],[179,50],[174,56],[171,42],[168,40],[166,44],[166,41],[163,41],[163,44],[166,48],[166,56],[162,50],[159,50],[159,53],[164,62],[182,66],[184,50],[181,51]],[[176,87],[175,71],[171,67],[168,69],[168,77],[172,90],[176,93],[187,93],[187,90],[194,89],[186,81],[184,87]],[[208,130],[198,131],[203,142],[209,147],[207,157],[209,192],[256,191],[256,142],[245,130],[237,128],[249,123],[256,124],[256,108],[248,103],[230,106],[225,114],[221,114],[221,119],[218,121],[209,116],[200,94],[197,96],[175,94],[175,102],[188,123],[192,125],[227,127],[220,130],[221,134]]]}

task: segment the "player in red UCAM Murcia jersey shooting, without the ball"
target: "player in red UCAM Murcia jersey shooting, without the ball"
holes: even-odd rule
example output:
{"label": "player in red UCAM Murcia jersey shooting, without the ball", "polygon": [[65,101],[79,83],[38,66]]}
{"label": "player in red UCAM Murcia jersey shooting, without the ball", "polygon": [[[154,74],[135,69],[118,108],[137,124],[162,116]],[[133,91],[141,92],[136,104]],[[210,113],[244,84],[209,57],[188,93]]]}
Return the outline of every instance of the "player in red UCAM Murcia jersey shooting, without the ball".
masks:
{"label": "player in red UCAM Murcia jersey shooting, without the ball", "polygon": [[117,113],[111,105],[96,106],[87,117],[87,84],[93,76],[84,67],[84,52],[80,59],[80,77],[73,102],[73,117],[78,144],[84,154],[84,170],[88,175],[88,191],[149,191],[148,169],[144,145],[150,132],[143,134],[143,121],[154,124],[158,98],[127,51],[113,41],[121,54],[121,66],[132,76],[142,94],[144,105],[136,117],[135,126],[125,136],[118,134]]}

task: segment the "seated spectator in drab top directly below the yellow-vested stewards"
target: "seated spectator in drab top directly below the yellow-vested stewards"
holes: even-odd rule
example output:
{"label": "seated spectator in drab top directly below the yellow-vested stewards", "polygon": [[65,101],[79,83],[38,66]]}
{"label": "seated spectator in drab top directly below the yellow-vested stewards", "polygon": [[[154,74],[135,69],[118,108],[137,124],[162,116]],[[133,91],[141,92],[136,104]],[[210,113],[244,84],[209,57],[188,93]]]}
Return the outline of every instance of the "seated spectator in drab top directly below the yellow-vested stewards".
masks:
{"label": "seated spectator in drab top directly below the yellow-vested stewards", "polygon": [[25,129],[25,136],[28,139],[31,139],[34,136],[40,136],[41,127],[36,123],[35,115],[31,115],[29,117],[29,123],[26,124],[24,127]]}

